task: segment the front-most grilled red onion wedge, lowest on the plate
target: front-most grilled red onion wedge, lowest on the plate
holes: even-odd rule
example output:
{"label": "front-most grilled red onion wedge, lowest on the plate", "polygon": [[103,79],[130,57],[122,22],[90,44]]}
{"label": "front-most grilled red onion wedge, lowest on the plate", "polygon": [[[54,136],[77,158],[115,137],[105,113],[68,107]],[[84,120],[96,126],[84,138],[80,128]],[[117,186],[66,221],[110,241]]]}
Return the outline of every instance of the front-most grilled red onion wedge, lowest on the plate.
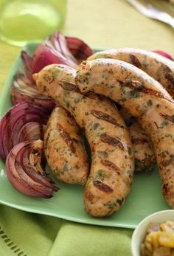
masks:
{"label": "front-most grilled red onion wedge, lowest on the plate", "polygon": [[6,159],[7,177],[11,184],[27,196],[50,198],[58,187],[46,176],[43,165],[44,142],[21,142]]}

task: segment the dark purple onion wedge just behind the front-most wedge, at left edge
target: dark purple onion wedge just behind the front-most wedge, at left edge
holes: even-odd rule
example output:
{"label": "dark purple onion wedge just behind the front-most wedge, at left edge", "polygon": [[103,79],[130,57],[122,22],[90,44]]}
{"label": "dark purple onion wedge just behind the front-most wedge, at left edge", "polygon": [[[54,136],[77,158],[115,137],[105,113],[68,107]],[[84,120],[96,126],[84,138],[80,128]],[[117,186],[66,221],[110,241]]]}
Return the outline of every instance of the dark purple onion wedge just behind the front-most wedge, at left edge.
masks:
{"label": "dark purple onion wedge just behind the front-most wedge, at left edge", "polygon": [[43,139],[48,117],[49,111],[30,103],[10,108],[0,121],[0,157],[5,160],[19,142]]}

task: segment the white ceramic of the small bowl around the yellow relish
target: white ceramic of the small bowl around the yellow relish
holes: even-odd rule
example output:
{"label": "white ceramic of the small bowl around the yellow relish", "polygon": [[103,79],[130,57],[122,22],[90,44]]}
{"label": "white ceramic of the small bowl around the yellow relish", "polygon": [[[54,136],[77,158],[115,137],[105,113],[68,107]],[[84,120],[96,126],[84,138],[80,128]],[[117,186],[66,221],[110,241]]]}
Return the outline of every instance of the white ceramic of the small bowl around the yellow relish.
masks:
{"label": "white ceramic of the small bowl around the yellow relish", "polygon": [[136,229],[133,232],[131,240],[131,250],[133,256],[140,256],[141,245],[145,239],[147,227],[150,224],[150,222],[153,222],[155,224],[161,224],[168,220],[174,221],[174,210],[164,210],[161,212],[155,212],[144,218],[139,223],[139,225],[136,226]]}

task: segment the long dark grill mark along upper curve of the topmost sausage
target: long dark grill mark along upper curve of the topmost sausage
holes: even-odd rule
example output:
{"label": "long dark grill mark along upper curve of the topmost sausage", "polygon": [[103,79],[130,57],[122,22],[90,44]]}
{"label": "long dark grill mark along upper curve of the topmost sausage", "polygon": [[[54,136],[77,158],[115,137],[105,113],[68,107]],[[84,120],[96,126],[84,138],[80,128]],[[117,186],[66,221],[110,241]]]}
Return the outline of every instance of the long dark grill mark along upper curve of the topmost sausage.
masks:
{"label": "long dark grill mark along upper curve of the topmost sausage", "polygon": [[123,84],[125,87],[128,87],[128,88],[132,89],[133,91],[143,92],[147,95],[153,95],[153,96],[158,97],[160,99],[167,100],[170,103],[174,103],[174,100],[168,99],[168,97],[166,97],[160,91],[145,88],[145,86],[143,86],[142,83],[140,83],[137,80],[133,80],[133,81],[129,81],[129,82],[123,82],[122,80],[117,80],[117,81],[119,83]]}

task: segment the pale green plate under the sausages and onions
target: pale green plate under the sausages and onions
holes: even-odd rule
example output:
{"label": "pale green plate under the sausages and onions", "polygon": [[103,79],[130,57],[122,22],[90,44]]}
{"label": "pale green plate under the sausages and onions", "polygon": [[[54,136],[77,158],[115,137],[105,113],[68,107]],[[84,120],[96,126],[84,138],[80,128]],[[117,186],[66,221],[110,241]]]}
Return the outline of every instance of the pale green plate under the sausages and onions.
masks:
{"label": "pale green plate under the sausages and onions", "polygon": [[[28,44],[25,50],[29,54],[35,49],[36,44]],[[15,60],[10,75],[1,95],[0,116],[10,107],[9,89],[18,66],[21,66],[20,56]],[[102,226],[119,226],[133,229],[153,212],[169,209],[161,195],[161,185],[158,169],[152,173],[136,173],[130,194],[125,204],[109,218],[93,218],[84,210],[83,187],[55,182],[60,187],[58,193],[50,199],[32,198],[24,196],[10,184],[5,173],[4,163],[0,161],[0,203],[27,212],[52,215],[69,221]]]}

